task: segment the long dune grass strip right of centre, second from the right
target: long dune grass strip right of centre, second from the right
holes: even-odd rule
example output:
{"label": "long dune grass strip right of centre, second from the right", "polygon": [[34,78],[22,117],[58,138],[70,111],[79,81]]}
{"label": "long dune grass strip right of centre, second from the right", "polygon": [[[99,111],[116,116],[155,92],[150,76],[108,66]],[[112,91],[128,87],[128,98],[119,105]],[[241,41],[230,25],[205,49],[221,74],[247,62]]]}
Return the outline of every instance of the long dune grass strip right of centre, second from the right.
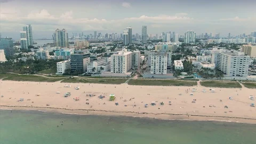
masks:
{"label": "long dune grass strip right of centre, second from the right", "polygon": [[129,85],[194,86],[197,82],[177,80],[131,79]]}

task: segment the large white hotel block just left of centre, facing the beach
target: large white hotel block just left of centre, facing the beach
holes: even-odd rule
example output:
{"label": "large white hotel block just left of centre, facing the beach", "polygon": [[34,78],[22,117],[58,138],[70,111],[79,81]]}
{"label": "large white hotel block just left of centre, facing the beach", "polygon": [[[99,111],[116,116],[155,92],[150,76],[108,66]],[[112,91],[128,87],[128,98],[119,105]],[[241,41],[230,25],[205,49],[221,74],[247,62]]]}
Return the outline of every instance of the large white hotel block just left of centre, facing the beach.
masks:
{"label": "large white hotel block just left of centre, facing the beach", "polygon": [[123,49],[111,55],[110,59],[111,73],[126,74],[133,67],[140,68],[140,51],[129,52]]}

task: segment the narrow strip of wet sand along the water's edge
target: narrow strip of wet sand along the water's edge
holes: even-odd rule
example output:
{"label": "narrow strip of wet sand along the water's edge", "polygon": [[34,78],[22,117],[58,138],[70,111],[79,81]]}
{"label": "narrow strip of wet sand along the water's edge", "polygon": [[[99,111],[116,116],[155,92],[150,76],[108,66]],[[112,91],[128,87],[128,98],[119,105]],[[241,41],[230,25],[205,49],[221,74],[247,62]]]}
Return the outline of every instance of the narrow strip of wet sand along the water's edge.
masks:
{"label": "narrow strip of wet sand along the water's edge", "polygon": [[230,117],[230,116],[187,115],[187,114],[167,114],[167,113],[138,113],[135,111],[107,111],[107,110],[95,110],[95,109],[67,109],[67,108],[54,108],[54,107],[2,106],[2,105],[0,106],[0,110],[29,110],[29,111],[34,110],[34,111],[40,111],[43,113],[58,113],[58,114],[67,114],[67,115],[96,115],[96,116],[123,116],[123,117],[153,118],[153,119],[159,119],[163,121],[210,121],[210,122],[256,124],[256,118]]}

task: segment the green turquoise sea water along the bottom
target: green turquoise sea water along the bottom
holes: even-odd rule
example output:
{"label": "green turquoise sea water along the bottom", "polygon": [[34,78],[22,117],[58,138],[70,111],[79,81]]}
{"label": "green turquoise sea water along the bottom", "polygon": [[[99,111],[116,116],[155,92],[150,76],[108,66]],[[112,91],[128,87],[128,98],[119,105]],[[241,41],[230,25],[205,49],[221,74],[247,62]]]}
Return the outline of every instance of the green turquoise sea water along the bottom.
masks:
{"label": "green turquoise sea water along the bottom", "polygon": [[[63,123],[62,123],[62,122]],[[62,125],[61,125],[62,124]],[[57,127],[59,125],[59,127]],[[256,143],[255,124],[0,110],[1,144]]]}

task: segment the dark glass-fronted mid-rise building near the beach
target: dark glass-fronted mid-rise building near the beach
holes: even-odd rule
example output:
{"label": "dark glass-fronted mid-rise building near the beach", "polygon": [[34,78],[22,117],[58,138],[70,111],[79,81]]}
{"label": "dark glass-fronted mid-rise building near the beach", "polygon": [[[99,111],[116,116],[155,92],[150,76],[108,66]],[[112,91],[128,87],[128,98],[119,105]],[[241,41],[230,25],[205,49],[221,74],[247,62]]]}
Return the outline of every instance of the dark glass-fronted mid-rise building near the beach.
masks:
{"label": "dark glass-fronted mid-rise building near the beach", "polygon": [[74,51],[71,54],[71,73],[85,73],[87,70],[87,63],[90,62],[90,53],[82,50]]}

